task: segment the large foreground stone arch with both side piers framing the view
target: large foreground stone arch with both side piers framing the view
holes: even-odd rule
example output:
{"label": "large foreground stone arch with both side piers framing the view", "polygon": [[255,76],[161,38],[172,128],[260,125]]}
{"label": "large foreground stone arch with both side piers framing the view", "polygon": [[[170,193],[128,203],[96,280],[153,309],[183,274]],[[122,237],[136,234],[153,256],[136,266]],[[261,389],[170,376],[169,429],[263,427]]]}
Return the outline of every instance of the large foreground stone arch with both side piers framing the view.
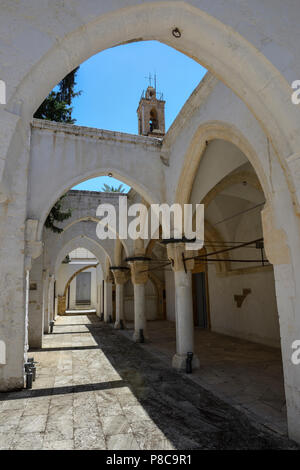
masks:
{"label": "large foreground stone arch with both side piers framing the view", "polygon": [[[251,44],[242,36],[244,20],[242,7],[238,9],[235,6],[236,18],[240,20],[240,23],[236,20],[236,24],[242,25],[240,33],[225,24],[226,15],[220,5],[212,6],[210,9],[207,2],[200,0],[197,5],[199,8],[188,2],[145,1],[143,4],[108,11],[106,5],[93,3],[92,9],[89,4],[85,7],[87,16],[84,13],[81,13],[81,16],[64,11],[64,28],[56,18],[52,21],[51,34],[47,37],[45,35],[45,40],[40,41],[39,47],[30,47],[33,42],[29,41],[27,58],[15,60],[16,63],[21,64],[19,69],[13,70],[8,65],[9,73],[7,77],[3,77],[9,79],[10,88],[8,105],[1,113],[3,129],[5,129],[1,141],[3,149],[1,176],[5,174],[7,177],[5,180],[11,183],[11,188],[18,188],[18,192],[12,189],[11,194],[8,194],[7,184],[2,180],[1,200],[6,201],[2,248],[3,253],[15,252],[16,259],[9,260],[9,265],[7,265],[7,258],[3,257],[1,265],[3,271],[7,272],[5,279],[1,281],[0,289],[1,304],[6,306],[1,334],[8,341],[8,357],[12,357],[12,362],[1,370],[1,389],[16,388],[23,384],[24,345],[21,343],[25,336],[24,267],[26,267],[27,274],[29,273],[28,259],[25,264],[23,256],[23,227],[27,199],[27,186],[23,181],[23,175],[27,174],[29,162],[29,122],[34,110],[56,83],[91,55],[130,41],[156,39],[200,61],[234,90],[261,123],[272,142],[287,180],[288,192],[282,193],[282,201],[279,202],[283,205],[285,202],[289,204],[288,200],[292,197],[294,206],[298,210],[298,194],[295,185],[299,185],[296,170],[300,148],[300,111],[291,103],[289,84],[280,71],[255,47],[254,39]],[[23,16],[20,15],[20,17],[23,17],[25,23],[25,12],[22,13]],[[42,23],[42,17],[45,16],[43,11],[38,11],[37,16],[40,16]],[[229,16],[230,14],[227,14],[227,18]],[[26,15],[26,18],[29,17],[30,15]],[[27,31],[28,24],[24,26],[26,26],[24,30]],[[42,26],[43,24],[38,25],[35,31],[37,32],[38,29],[43,31]],[[172,34],[175,27],[180,31],[180,38]],[[31,35],[31,33],[31,30],[30,33],[29,31],[26,33],[28,38],[35,38],[35,34]],[[244,35],[247,36],[247,34],[246,25]],[[8,54],[13,57],[10,48],[8,48]],[[284,48],[280,55],[285,55]],[[11,64],[11,61],[8,61],[8,64]],[[283,65],[282,68],[284,68]],[[4,165],[5,159],[6,166]],[[18,171],[15,171],[16,168]],[[21,186],[17,181],[18,175],[22,175]],[[264,186],[261,178],[260,180]],[[268,199],[269,192],[265,190],[265,187],[264,191]],[[16,208],[18,209],[17,215]],[[269,255],[270,259],[276,256],[276,252],[280,251],[282,246],[286,251],[286,237],[284,233],[276,231],[276,217],[278,214],[274,216],[274,207],[270,204],[264,216],[270,237],[273,232],[270,244],[270,253],[272,252],[273,255]],[[288,358],[288,339],[292,339],[292,336],[297,336],[300,332],[299,320],[295,319],[296,306],[299,303],[298,289],[295,285],[300,270],[300,260],[297,256],[299,226],[290,215],[287,219],[284,219],[284,214],[280,214],[279,217],[291,227],[289,241],[293,243],[294,248],[292,256],[283,258],[281,266],[276,270],[279,290],[281,281],[289,287],[286,292],[282,292],[281,296],[283,336],[287,337],[285,349]],[[13,241],[12,234],[14,234]],[[28,255],[27,258],[30,256]],[[291,258],[293,266],[289,264]],[[284,305],[289,305],[290,311],[293,312],[286,312]],[[16,323],[14,323],[14,318]],[[290,322],[294,322],[293,335],[291,335]],[[16,329],[18,330],[17,343],[20,343],[17,346],[10,344],[10,342],[13,343],[11,338],[14,337]],[[292,410],[297,401],[295,397],[296,390],[299,392],[300,379],[291,368],[289,368],[287,378]],[[297,413],[294,415],[299,417],[298,402]],[[299,424],[292,412],[291,423],[294,423],[293,435],[300,439]]]}

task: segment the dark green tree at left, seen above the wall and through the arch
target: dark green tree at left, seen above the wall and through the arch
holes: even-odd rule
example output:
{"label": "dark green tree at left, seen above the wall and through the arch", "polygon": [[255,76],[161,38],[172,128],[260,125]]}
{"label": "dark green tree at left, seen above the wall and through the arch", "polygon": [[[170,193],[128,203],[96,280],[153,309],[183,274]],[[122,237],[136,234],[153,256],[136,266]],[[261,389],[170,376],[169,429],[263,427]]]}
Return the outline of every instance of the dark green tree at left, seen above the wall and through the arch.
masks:
{"label": "dark green tree at left, seen above the wall and through the arch", "polygon": [[[58,84],[58,90],[52,90],[51,93],[49,93],[47,98],[36,110],[33,117],[38,119],[47,119],[48,121],[74,124],[75,119],[72,118],[73,108],[71,104],[73,98],[81,94],[81,91],[74,91],[78,69],[79,67],[72,70],[72,72],[61,80]],[[70,209],[67,211],[62,210],[62,200],[63,197],[54,204],[45,222],[45,227],[51,229],[55,233],[61,233],[63,231],[55,225],[56,222],[62,222],[72,215],[72,211]]]}

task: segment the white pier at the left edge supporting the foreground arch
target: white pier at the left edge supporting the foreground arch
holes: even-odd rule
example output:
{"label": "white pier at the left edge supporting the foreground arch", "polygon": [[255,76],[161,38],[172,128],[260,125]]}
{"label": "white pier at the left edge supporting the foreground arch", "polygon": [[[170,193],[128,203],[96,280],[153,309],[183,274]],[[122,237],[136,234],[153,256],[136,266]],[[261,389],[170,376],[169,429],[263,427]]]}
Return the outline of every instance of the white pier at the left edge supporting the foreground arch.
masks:
{"label": "white pier at the left edge supporting the foreground arch", "polygon": [[[7,199],[0,204],[0,340],[6,350],[6,363],[0,365],[0,391],[24,387],[25,345],[25,233],[28,202],[28,164],[30,157],[30,119],[1,107],[1,168],[9,149],[5,176],[0,182],[7,188]],[[18,132],[13,136],[14,128]],[[13,136],[13,137],[12,137]],[[7,147],[6,147],[7,143]],[[17,171],[16,171],[17,168]],[[3,193],[1,202],[4,202]]]}

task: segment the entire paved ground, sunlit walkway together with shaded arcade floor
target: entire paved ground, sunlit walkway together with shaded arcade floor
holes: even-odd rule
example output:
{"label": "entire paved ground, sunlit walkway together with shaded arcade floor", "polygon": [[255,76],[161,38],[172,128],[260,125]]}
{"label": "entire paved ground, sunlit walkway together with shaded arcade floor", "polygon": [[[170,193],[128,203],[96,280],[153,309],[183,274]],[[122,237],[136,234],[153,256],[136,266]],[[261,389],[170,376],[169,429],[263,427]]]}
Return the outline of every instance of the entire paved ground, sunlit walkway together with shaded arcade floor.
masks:
{"label": "entire paved ground, sunlit walkway together with shaded arcade floor", "polygon": [[[174,328],[168,322],[149,325],[151,342],[138,344],[127,338],[130,330],[114,330],[96,315],[59,317],[53,334],[45,336],[43,348],[31,351],[38,361],[33,388],[1,394],[0,447],[296,448],[280,434],[284,432],[278,411],[280,392],[272,394],[272,386],[280,390],[282,380],[276,349],[225,336],[221,341],[221,335],[196,330],[195,343],[203,340],[199,350],[203,349],[199,354],[203,365],[197,374],[187,376],[169,367]],[[218,344],[213,354],[209,344]],[[266,354],[268,368],[263,363]],[[260,387],[265,377],[268,389],[259,388],[258,377]],[[227,402],[208,390],[210,384],[214,390],[219,384]],[[247,414],[246,394],[251,412],[260,415],[256,421]],[[242,395],[244,408],[239,410]],[[268,410],[265,426],[263,406]],[[276,432],[271,430],[272,418]]]}

